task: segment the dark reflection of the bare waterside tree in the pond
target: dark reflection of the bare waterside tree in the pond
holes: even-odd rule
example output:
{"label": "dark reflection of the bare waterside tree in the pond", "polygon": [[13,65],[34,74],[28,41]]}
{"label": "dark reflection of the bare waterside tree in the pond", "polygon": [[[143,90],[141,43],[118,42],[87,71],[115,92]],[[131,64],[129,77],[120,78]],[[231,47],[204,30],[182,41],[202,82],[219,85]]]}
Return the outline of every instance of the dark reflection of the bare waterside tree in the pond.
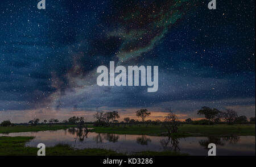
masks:
{"label": "dark reflection of the bare waterside tree in the pond", "polygon": [[176,137],[168,137],[168,139],[160,140],[164,151],[180,151],[179,140]]}

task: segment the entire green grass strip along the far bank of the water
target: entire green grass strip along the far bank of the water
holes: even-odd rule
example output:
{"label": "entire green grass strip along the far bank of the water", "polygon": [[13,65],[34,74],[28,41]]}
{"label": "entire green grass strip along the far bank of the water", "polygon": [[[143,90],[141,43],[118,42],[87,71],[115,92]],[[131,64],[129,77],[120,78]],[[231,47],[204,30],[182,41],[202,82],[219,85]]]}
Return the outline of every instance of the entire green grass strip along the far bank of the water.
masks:
{"label": "entire green grass strip along the far bank of the water", "polygon": [[[38,126],[14,126],[0,127],[0,133],[11,132],[34,132],[47,130],[61,130],[75,125],[38,125]],[[89,125],[88,127],[93,127]],[[161,136],[166,134],[166,130],[158,126],[135,125],[135,126],[111,126],[111,127],[93,127],[94,132],[98,133],[115,133],[115,134],[134,134],[134,135],[152,135]],[[255,124],[216,124],[212,126],[182,124],[179,126],[178,136],[255,136]]]}

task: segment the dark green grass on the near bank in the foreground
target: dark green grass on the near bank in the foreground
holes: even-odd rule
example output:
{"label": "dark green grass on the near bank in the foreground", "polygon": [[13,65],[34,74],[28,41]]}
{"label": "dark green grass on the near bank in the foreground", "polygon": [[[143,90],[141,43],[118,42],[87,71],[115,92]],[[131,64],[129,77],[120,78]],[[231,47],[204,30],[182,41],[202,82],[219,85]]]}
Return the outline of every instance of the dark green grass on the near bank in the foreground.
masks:
{"label": "dark green grass on the near bank in the foreground", "polygon": [[[0,156],[36,156],[38,148],[25,147],[25,143],[33,137],[0,137]],[[106,149],[73,149],[69,145],[58,144],[55,147],[46,148],[47,156],[125,156],[122,153]],[[164,151],[164,152],[140,152],[135,156],[179,156],[185,155],[176,152]]]}

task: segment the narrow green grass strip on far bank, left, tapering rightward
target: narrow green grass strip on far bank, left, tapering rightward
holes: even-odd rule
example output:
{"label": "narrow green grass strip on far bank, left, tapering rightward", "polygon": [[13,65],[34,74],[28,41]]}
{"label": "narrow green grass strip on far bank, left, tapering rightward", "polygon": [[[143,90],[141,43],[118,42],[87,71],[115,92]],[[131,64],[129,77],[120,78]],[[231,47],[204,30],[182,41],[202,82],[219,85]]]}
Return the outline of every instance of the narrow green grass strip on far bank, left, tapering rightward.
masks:
{"label": "narrow green grass strip on far bank, left, tapering rightward", "polygon": [[14,127],[0,127],[0,133],[13,133],[13,132],[35,132],[47,130],[64,130],[69,127],[76,127],[75,125],[37,125],[37,126],[14,126]]}

